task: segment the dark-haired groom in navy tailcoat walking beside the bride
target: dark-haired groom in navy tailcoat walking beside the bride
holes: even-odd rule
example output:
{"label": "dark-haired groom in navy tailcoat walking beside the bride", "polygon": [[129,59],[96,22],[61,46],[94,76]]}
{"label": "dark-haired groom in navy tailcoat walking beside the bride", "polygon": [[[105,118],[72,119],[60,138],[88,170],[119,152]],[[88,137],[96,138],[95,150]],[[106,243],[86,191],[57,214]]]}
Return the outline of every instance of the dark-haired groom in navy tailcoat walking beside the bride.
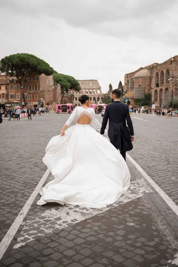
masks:
{"label": "dark-haired groom in navy tailcoat walking beside the bride", "polygon": [[[106,106],[100,133],[104,131],[109,119],[108,137],[111,144],[120,150],[120,154],[126,160],[126,151],[133,148],[134,129],[130,118],[128,105],[120,102],[120,90],[112,91],[112,103]],[[126,125],[127,120],[127,125]]]}

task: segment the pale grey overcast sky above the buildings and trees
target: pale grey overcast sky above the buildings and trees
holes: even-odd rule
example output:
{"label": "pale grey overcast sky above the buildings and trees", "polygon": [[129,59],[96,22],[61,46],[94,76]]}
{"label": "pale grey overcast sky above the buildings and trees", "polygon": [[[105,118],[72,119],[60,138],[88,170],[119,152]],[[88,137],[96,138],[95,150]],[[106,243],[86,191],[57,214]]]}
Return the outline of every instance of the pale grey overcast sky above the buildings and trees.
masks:
{"label": "pale grey overcast sky above the buildings and trees", "polygon": [[0,0],[0,9],[0,59],[34,54],[103,92],[178,54],[177,0]]}

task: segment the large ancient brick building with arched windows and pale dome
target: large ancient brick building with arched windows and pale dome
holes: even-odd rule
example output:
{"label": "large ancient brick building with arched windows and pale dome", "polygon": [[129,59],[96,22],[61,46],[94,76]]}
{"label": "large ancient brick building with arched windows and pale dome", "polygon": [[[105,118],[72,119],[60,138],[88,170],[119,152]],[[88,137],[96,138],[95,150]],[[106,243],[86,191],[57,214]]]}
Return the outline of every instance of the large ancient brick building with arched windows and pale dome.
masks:
{"label": "large ancient brick building with arched windows and pale dome", "polygon": [[174,76],[173,95],[178,96],[178,56],[171,57],[163,63],[153,63],[139,68],[124,76],[124,98],[130,99],[134,104],[134,98],[144,97],[144,93],[152,93],[152,103],[156,106],[164,106],[165,101],[171,96],[168,80]]}

